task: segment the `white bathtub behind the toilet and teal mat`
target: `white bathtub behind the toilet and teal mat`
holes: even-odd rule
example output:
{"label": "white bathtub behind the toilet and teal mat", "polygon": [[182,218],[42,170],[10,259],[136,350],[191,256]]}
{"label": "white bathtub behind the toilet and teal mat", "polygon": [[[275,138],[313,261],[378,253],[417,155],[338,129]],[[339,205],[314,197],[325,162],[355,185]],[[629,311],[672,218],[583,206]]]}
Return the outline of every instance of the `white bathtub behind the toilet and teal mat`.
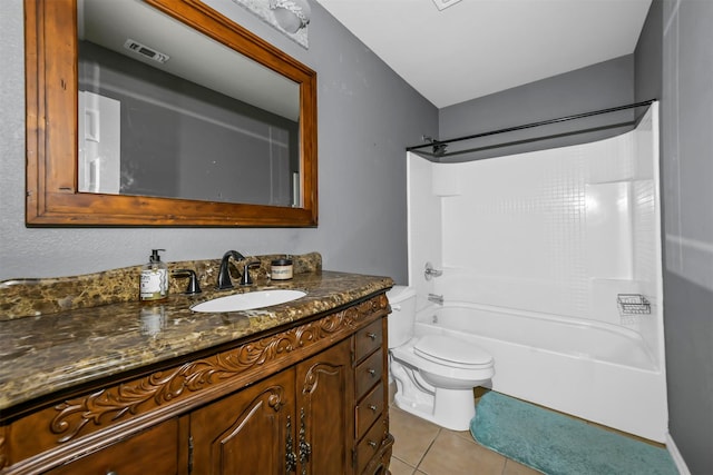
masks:
{"label": "white bathtub behind the toilet and teal mat", "polygon": [[419,310],[414,333],[449,335],[489,352],[495,358],[494,390],[666,441],[665,374],[634,330],[447,301]]}

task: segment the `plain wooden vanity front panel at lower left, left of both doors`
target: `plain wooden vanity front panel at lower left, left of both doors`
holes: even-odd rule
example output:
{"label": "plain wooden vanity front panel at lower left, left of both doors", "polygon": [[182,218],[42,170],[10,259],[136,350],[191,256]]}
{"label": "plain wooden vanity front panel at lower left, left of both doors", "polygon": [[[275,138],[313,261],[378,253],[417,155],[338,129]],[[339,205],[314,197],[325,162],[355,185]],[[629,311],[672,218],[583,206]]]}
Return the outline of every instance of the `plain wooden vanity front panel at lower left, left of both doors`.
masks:
{"label": "plain wooden vanity front panel at lower left, left of both doors", "polygon": [[178,473],[177,434],[177,420],[167,420],[46,474],[106,475],[117,473],[145,475],[147,471],[155,474],[175,474]]}

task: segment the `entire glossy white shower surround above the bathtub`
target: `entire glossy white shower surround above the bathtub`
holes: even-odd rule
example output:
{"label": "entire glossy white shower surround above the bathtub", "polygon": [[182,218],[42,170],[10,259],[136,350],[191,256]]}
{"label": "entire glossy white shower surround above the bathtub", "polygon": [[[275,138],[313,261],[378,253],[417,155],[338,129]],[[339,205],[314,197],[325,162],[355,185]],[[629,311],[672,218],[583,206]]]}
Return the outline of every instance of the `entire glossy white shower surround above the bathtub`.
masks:
{"label": "entire glossy white shower surround above the bathtub", "polygon": [[[448,300],[626,325],[656,350],[656,309],[623,318],[617,306],[618,294],[645,295],[653,306],[660,295],[648,115],[636,130],[578,146],[458,164],[411,155],[423,175],[410,185],[411,285],[426,285],[419,271],[431,260],[445,273],[428,291]],[[440,207],[419,205],[429,168]]]}

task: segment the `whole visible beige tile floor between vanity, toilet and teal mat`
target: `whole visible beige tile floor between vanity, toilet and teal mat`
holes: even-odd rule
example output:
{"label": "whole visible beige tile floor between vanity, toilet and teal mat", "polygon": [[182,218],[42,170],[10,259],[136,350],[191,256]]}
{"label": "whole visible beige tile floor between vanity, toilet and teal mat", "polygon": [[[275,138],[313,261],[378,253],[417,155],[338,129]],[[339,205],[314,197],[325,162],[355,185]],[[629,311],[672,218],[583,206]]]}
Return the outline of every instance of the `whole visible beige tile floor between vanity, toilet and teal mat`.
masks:
{"label": "whole visible beige tile floor between vanity, toilet and teal mat", "polygon": [[470,432],[449,431],[391,405],[392,475],[541,475],[488,451]]}

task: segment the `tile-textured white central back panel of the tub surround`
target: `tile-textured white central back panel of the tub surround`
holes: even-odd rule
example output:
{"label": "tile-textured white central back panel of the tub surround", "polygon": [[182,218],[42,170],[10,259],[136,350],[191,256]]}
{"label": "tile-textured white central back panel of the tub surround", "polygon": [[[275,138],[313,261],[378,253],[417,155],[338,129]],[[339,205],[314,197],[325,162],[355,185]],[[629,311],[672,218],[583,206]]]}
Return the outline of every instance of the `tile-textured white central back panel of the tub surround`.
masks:
{"label": "tile-textured white central back panel of the tub surround", "polygon": [[[442,198],[448,298],[586,313],[586,157],[580,148],[443,167],[462,181],[461,195]],[[451,278],[458,285],[446,281]]]}

